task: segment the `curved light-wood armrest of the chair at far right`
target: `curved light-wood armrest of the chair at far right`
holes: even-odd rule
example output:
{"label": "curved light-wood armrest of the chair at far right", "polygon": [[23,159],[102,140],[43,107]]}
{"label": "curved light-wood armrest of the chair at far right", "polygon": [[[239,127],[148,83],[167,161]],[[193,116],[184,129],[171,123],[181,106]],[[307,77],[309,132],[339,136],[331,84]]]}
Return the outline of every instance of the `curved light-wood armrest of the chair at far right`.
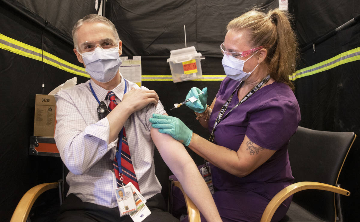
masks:
{"label": "curved light-wood armrest of the chair at far right", "polygon": [[280,206],[280,204],[283,203],[285,199],[287,199],[289,196],[293,195],[296,192],[302,191],[302,190],[327,190],[331,192],[335,192],[338,194],[342,194],[345,196],[349,196],[350,192],[348,190],[342,189],[340,187],[318,183],[318,182],[297,182],[295,184],[289,185],[285,187],[284,189],[280,190],[278,194],[276,194],[273,199],[267,204],[264,213],[261,217],[261,222],[270,222],[271,218],[273,218],[273,215]]}

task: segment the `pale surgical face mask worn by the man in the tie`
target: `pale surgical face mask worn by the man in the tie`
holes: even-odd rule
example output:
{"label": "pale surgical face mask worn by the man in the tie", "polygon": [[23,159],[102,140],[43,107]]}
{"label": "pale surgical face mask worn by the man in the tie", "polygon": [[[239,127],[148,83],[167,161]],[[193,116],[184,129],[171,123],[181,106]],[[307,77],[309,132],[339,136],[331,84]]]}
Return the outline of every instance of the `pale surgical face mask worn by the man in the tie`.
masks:
{"label": "pale surgical face mask worn by the man in the tie", "polygon": [[86,65],[85,71],[99,82],[111,81],[122,63],[118,47],[111,49],[97,47],[94,51],[79,54],[82,55]]}

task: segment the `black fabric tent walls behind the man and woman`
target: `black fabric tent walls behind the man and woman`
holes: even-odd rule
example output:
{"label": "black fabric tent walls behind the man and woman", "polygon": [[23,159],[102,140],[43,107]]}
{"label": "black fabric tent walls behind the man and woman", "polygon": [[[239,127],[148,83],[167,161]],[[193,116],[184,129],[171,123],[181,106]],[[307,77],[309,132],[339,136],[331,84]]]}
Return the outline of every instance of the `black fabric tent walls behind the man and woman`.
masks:
{"label": "black fabric tent walls behind the man and woman", "polygon": [[[97,13],[94,0],[0,2],[1,34],[39,49],[43,47],[48,53],[82,67],[72,51],[70,33],[78,19]],[[170,57],[170,50],[185,47],[184,25],[187,46],[195,46],[206,57],[201,60],[203,74],[224,74],[219,47],[224,41],[225,26],[232,18],[257,4],[267,9],[275,8],[278,0],[251,1],[251,4],[229,0],[107,0],[105,16],[117,27],[124,55],[141,56],[143,75],[171,74],[166,59]],[[289,1],[289,12],[294,16],[294,30],[302,48],[359,15],[360,3],[355,0],[346,4],[335,0],[316,3],[311,0]],[[45,21],[50,22],[46,30]],[[360,25],[355,24],[315,45],[315,53],[312,48],[303,51],[297,69],[359,47],[359,32]],[[28,155],[29,137],[33,135],[35,94],[42,94],[43,82],[44,94],[48,94],[76,75],[4,49],[0,49],[0,59],[3,113],[0,120],[3,126],[0,137],[3,145],[0,152],[3,168],[0,175],[0,216],[1,220],[9,221],[18,201],[28,189],[61,178],[60,158]],[[295,94],[301,109],[300,125],[315,130],[353,131],[360,136],[359,70],[360,62],[356,60],[295,80]],[[76,77],[78,83],[88,80]],[[157,91],[169,115],[179,117],[204,138],[209,136],[190,109],[170,109],[174,103],[183,101],[194,86],[200,89],[208,87],[210,103],[220,81],[143,81],[142,84]],[[349,197],[342,198],[345,221],[357,221],[354,212],[360,207],[357,201],[360,197],[357,189],[359,148],[360,138],[357,138],[338,181],[343,188],[351,191]],[[195,163],[203,163],[202,158],[188,151]]]}

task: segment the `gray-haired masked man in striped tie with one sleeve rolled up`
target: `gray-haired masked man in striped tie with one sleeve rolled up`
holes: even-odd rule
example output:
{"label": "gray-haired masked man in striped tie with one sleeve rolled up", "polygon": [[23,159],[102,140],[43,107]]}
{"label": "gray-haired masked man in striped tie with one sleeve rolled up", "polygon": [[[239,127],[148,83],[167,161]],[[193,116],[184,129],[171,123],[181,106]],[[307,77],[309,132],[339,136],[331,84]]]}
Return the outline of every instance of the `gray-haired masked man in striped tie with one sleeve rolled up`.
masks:
{"label": "gray-haired masked man in striped tie with one sleeve rolled up", "polygon": [[147,199],[151,214],[143,221],[177,221],[165,212],[155,176],[154,143],[208,221],[221,221],[183,144],[151,127],[153,113],[166,114],[156,92],[119,72],[122,41],[113,23],[87,15],[77,21],[72,34],[74,52],[90,80],[55,95],[55,141],[70,171],[58,221],[132,221],[120,217],[116,193],[130,182]]}

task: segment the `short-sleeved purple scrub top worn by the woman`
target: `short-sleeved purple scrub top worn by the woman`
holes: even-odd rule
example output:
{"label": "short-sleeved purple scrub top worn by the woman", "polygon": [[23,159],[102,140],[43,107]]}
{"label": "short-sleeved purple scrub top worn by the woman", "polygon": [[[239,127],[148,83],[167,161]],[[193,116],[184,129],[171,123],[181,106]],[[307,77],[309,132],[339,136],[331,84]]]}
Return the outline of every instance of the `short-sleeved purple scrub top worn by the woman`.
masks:
{"label": "short-sleeved purple scrub top worn by the woman", "polygon": [[[209,119],[210,133],[220,109],[238,85],[238,81],[229,77],[221,82]],[[224,115],[238,102],[235,92]],[[246,192],[264,186],[266,196],[271,199],[293,180],[287,147],[299,123],[300,108],[288,85],[274,82],[257,90],[217,124],[214,143],[237,151],[247,135],[255,144],[276,152],[252,173],[241,178],[211,165],[214,187]]]}

